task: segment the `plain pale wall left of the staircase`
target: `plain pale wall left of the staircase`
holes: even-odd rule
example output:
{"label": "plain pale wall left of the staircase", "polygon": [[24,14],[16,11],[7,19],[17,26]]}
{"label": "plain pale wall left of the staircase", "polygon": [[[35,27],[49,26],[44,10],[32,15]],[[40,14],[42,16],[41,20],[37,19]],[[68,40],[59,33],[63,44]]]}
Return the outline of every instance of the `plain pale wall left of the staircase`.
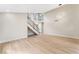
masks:
{"label": "plain pale wall left of the staircase", "polygon": [[0,43],[27,37],[26,21],[23,13],[0,13]]}

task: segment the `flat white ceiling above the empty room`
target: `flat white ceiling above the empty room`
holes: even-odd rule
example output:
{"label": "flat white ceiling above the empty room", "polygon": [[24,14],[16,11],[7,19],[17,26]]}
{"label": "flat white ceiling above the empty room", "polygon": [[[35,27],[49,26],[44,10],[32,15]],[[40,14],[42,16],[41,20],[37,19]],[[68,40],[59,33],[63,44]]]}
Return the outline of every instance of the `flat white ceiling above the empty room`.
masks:
{"label": "flat white ceiling above the empty room", "polygon": [[58,7],[58,4],[0,4],[0,12],[44,13]]}

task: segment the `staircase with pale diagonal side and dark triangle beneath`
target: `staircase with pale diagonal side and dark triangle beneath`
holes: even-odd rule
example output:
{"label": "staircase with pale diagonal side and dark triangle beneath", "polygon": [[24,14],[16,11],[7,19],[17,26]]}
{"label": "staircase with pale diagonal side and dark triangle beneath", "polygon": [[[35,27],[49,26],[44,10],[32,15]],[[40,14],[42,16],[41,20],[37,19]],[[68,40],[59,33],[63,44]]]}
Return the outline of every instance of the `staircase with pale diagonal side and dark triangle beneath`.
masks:
{"label": "staircase with pale diagonal side and dark triangle beneath", "polygon": [[38,25],[31,19],[28,19],[28,37],[40,34]]}

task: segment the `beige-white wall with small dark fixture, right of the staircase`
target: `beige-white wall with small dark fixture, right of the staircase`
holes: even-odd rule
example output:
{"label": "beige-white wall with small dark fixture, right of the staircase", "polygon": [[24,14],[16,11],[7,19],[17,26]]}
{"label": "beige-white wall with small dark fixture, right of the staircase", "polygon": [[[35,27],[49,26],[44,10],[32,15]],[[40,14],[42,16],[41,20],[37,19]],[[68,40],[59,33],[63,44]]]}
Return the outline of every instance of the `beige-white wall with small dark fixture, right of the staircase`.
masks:
{"label": "beige-white wall with small dark fixture, right of the staircase", "polygon": [[45,13],[44,34],[79,38],[79,5],[64,5]]}

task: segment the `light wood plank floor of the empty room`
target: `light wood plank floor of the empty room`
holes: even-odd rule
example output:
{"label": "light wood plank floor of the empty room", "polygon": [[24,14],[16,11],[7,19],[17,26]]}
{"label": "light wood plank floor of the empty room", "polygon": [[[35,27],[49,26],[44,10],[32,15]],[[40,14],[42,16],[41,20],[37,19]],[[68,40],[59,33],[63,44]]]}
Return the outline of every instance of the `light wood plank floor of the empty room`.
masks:
{"label": "light wood plank floor of the empty room", "polygon": [[79,53],[79,39],[40,35],[0,45],[2,53],[65,54]]}

